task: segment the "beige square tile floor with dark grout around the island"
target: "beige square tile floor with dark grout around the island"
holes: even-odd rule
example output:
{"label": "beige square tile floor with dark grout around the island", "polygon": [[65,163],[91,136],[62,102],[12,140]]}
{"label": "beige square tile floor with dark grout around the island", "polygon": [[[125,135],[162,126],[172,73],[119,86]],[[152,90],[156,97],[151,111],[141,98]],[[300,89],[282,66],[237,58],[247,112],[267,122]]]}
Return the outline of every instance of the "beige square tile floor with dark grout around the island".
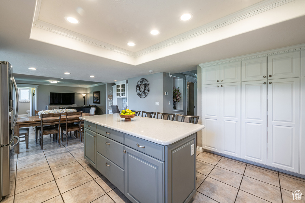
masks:
{"label": "beige square tile floor with dark grout around the island", "polygon": [[[84,143],[68,137],[58,146],[48,135],[44,150],[35,144],[30,128],[29,148],[20,144],[20,154],[11,160],[13,191],[6,202],[130,202],[84,159]],[[63,143],[66,142],[64,137]],[[295,202],[292,192],[305,194],[305,179],[254,166],[209,152],[197,152],[199,202]],[[298,202],[305,202],[305,197]]]}

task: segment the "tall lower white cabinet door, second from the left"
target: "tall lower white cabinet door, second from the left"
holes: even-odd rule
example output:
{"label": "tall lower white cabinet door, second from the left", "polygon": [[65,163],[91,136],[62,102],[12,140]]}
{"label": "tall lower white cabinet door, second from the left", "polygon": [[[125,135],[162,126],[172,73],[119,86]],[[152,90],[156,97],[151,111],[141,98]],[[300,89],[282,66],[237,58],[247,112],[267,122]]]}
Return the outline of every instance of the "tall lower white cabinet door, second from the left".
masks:
{"label": "tall lower white cabinet door, second from the left", "polygon": [[241,83],[220,87],[220,152],[241,157],[240,100]]}

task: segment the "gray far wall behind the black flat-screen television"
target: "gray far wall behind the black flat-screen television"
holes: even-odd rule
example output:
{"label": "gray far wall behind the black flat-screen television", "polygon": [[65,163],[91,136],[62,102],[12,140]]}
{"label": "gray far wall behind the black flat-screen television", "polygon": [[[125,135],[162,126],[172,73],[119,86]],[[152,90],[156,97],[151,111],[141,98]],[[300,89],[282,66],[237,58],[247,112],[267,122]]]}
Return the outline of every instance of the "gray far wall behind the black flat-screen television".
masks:
{"label": "gray far wall behind the black flat-screen television", "polygon": [[50,92],[75,93],[75,104],[77,106],[84,106],[84,98],[81,94],[87,93],[87,88],[39,85],[36,90],[36,96],[38,96],[38,110],[46,110],[46,105],[50,103]]}

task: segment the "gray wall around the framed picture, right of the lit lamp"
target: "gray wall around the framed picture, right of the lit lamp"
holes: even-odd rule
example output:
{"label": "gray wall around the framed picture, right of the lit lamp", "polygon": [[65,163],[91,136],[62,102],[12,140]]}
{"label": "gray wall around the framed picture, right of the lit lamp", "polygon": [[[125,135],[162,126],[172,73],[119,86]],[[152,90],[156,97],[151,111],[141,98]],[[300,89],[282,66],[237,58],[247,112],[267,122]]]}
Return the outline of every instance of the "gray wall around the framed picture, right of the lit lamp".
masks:
{"label": "gray wall around the framed picture, right of the lit lamp", "polygon": [[[91,104],[91,105],[97,106],[97,108],[95,109],[95,115],[106,114],[106,84],[95,86],[95,87],[84,88],[84,89],[86,89],[86,92],[87,92],[86,105]],[[101,103],[93,103],[93,92],[96,92],[96,91],[101,91],[101,95],[100,95]]]}

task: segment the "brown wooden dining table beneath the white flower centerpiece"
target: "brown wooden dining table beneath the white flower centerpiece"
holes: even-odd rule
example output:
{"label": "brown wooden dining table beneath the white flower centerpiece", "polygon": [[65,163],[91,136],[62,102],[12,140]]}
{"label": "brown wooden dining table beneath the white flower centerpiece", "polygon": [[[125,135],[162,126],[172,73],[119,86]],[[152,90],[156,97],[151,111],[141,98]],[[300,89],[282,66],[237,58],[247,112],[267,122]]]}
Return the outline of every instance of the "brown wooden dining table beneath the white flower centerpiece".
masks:
{"label": "brown wooden dining table beneath the white flower centerpiece", "polygon": [[[82,116],[94,116],[94,114],[83,113]],[[63,114],[60,118],[60,123],[65,123],[65,122],[66,122],[66,115]],[[16,125],[14,127],[14,135],[19,137],[20,128],[33,127],[39,125],[41,125],[41,118],[39,116],[18,117]],[[15,154],[19,154],[19,144],[15,147]]]}

